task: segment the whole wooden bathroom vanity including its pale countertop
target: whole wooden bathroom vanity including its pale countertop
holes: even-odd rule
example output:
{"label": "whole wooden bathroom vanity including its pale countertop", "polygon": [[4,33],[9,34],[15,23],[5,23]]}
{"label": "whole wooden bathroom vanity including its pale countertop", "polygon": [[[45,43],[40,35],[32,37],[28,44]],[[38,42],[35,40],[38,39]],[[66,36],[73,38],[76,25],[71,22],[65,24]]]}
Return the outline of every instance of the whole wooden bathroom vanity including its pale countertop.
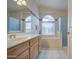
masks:
{"label": "whole wooden bathroom vanity including its pale countertop", "polygon": [[8,40],[7,59],[37,59],[39,54],[39,35]]}

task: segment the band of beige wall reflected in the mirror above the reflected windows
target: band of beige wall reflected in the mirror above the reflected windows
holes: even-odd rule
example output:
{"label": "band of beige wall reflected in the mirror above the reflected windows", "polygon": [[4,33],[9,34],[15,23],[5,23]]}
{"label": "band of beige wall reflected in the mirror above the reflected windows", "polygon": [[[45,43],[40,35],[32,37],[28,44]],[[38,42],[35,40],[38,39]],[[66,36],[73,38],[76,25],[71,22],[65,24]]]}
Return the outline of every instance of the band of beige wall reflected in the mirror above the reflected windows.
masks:
{"label": "band of beige wall reflected in the mirror above the reflected windows", "polygon": [[[25,9],[27,10],[27,9]],[[13,17],[18,17],[20,20],[25,19],[27,16],[32,15],[31,12],[25,11],[25,10],[20,10],[20,11],[8,11],[7,15],[8,16],[13,16]]]}

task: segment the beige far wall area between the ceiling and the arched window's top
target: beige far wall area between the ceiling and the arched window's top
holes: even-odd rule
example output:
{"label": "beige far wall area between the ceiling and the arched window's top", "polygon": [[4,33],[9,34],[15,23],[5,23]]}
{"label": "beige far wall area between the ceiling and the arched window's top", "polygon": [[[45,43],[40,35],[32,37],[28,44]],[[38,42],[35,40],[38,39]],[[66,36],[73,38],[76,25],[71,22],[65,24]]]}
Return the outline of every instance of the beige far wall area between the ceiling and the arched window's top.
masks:
{"label": "beige far wall area between the ceiling and the arched window's top", "polygon": [[54,18],[57,18],[59,16],[67,16],[67,14],[68,12],[65,10],[58,10],[46,6],[39,6],[39,15],[41,18],[45,15],[52,15]]}

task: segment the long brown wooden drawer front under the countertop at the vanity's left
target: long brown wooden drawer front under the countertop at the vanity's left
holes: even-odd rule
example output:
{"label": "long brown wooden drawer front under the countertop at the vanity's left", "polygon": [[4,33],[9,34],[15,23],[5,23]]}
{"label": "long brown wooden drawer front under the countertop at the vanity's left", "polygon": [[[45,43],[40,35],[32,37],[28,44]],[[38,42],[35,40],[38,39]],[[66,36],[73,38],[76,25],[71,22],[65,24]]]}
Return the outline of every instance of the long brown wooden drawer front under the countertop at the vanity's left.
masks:
{"label": "long brown wooden drawer front under the countertop at the vanity's left", "polygon": [[19,55],[22,53],[24,50],[26,50],[29,47],[29,42],[23,42],[19,45],[16,45],[12,48],[8,49],[8,55]]}

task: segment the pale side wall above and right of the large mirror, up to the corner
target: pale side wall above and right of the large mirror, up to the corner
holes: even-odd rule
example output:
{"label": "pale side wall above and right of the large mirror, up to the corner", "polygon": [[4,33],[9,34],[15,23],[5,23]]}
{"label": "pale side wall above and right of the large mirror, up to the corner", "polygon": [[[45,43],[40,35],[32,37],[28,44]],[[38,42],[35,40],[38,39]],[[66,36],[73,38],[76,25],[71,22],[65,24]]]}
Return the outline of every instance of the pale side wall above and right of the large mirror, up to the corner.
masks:
{"label": "pale side wall above and right of the large mirror, up to the corner", "polygon": [[[28,0],[27,7],[39,18],[39,10],[34,0]],[[32,33],[39,33],[39,19],[32,15]],[[37,29],[36,29],[37,27]]]}

